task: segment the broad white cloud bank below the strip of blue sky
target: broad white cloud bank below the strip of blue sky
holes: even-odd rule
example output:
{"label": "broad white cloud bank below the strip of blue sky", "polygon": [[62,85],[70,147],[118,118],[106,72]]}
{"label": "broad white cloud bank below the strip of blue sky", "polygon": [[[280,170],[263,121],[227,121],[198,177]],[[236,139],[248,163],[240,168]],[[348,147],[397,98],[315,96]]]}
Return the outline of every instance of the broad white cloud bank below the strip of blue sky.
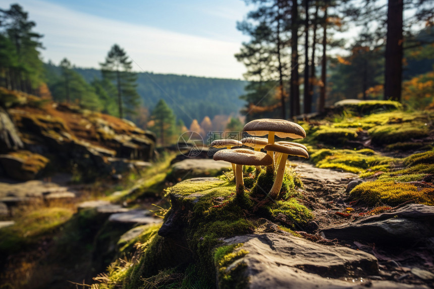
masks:
{"label": "broad white cloud bank below the strip of blue sky", "polygon": [[[98,68],[118,43],[140,67],[154,73],[242,78],[245,71],[234,57],[241,46],[237,42],[105,19],[39,0],[20,5],[36,22],[35,31],[44,34],[45,61],[59,63],[67,57],[76,66]],[[2,8],[8,6],[2,1]]]}

